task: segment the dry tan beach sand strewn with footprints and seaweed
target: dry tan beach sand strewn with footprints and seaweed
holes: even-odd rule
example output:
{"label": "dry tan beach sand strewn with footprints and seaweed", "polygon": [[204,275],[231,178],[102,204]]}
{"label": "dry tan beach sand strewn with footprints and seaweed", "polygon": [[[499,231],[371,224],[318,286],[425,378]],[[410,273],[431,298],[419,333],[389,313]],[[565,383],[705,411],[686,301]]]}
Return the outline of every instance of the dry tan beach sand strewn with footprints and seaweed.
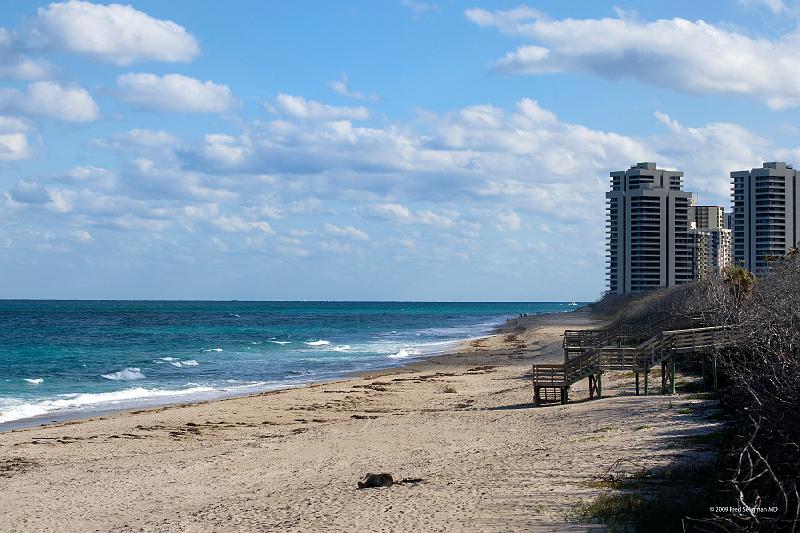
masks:
{"label": "dry tan beach sand strewn with footprints and seaweed", "polygon": [[[0,433],[0,530],[586,531],[565,513],[592,480],[690,460],[681,437],[715,424],[614,376],[533,408],[530,364],[596,324],[524,318],[402,369]],[[357,490],[367,472],[422,481]]]}

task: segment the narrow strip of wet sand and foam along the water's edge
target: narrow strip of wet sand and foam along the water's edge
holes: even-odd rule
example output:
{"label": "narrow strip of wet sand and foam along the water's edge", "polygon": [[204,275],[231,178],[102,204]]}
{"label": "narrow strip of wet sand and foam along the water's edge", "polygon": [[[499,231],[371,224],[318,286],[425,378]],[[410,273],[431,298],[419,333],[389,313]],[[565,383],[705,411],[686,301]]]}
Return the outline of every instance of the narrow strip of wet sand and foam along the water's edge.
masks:
{"label": "narrow strip of wet sand and foam along the water's edge", "polygon": [[[137,402],[136,400],[131,400],[130,403],[126,403],[124,406],[106,406],[106,407],[99,407],[97,409],[89,408],[89,409],[64,409],[61,411],[52,411],[49,413],[44,413],[41,415],[36,415],[33,417],[27,418],[20,418],[16,420],[10,420],[8,422],[0,423],[0,434],[9,432],[9,431],[20,431],[25,429],[31,428],[38,428],[38,427],[46,427],[53,424],[60,424],[63,422],[71,422],[71,421],[80,421],[80,420],[90,420],[96,418],[106,418],[109,416],[115,416],[119,414],[123,414],[130,411],[142,411],[142,410],[149,410],[149,409],[159,409],[162,407],[182,407],[182,406],[190,406],[195,404],[207,403],[207,402],[214,402],[214,401],[221,401],[226,399],[232,398],[247,398],[250,396],[255,396],[263,393],[269,393],[274,391],[281,391],[281,390],[292,390],[298,389],[303,387],[309,387],[317,384],[325,384],[325,383],[332,383],[338,382],[343,380],[349,380],[355,377],[362,377],[363,375],[367,375],[374,372],[381,372],[390,369],[402,369],[408,365],[413,365],[419,362],[426,361],[431,358],[435,357],[447,357],[450,355],[455,355],[460,352],[470,351],[470,344],[479,342],[483,339],[489,339],[491,337],[495,337],[498,335],[502,335],[503,333],[507,333],[510,331],[509,328],[518,327],[521,324],[526,324],[524,327],[528,327],[527,325],[531,324],[531,319],[535,317],[545,317],[545,316],[558,316],[564,315],[569,313],[578,313],[582,307],[578,307],[571,311],[562,311],[562,312],[547,312],[547,313],[537,313],[531,314],[526,317],[515,317],[506,320],[506,322],[498,322],[491,329],[486,333],[486,335],[478,336],[478,337],[468,337],[464,339],[454,339],[452,341],[448,341],[447,344],[449,345],[448,348],[445,348],[442,352],[432,352],[429,354],[420,354],[415,356],[410,356],[407,359],[399,359],[398,362],[393,365],[387,366],[378,366],[372,369],[363,369],[363,370],[354,370],[354,371],[343,371],[341,375],[327,378],[327,379],[312,379],[306,382],[299,382],[296,384],[292,384],[289,382],[283,383],[275,383],[272,385],[266,385],[263,388],[254,387],[257,390],[251,391],[241,391],[241,392],[233,392],[233,391],[225,391],[225,390],[216,390],[216,391],[207,391],[207,392],[197,392],[193,393],[190,398],[180,399],[180,391],[175,391],[175,394],[172,395],[172,401],[167,400],[165,402],[159,402],[157,400],[147,401],[147,398],[141,398]],[[124,390],[124,389],[123,389]],[[156,389],[158,390],[158,389]],[[169,396],[165,396],[165,398],[169,398]],[[109,402],[110,403],[110,402]]]}

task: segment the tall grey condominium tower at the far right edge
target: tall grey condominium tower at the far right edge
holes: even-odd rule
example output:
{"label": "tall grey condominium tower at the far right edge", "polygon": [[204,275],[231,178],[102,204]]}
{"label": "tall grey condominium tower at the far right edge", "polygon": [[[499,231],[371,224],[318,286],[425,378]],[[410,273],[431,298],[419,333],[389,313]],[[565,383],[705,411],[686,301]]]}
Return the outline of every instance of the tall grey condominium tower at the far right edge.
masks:
{"label": "tall grey condominium tower at the far right edge", "polygon": [[734,260],[756,274],[800,238],[798,174],[782,162],[731,172]]}

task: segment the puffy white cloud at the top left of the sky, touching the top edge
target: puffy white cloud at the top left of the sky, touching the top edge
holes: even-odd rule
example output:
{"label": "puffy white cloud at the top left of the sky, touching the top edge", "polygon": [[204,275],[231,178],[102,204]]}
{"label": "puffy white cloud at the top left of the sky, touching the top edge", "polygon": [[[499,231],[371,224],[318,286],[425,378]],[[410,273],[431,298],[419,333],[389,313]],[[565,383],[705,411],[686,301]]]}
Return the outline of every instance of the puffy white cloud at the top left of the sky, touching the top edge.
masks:
{"label": "puffy white cloud at the top left of the sky, touching the top edge", "polygon": [[69,0],[37,11],[23,40],[31,48],[86,54],[117,65],[135,61],[191,61],[197,39],[182,26],[130,5]]}

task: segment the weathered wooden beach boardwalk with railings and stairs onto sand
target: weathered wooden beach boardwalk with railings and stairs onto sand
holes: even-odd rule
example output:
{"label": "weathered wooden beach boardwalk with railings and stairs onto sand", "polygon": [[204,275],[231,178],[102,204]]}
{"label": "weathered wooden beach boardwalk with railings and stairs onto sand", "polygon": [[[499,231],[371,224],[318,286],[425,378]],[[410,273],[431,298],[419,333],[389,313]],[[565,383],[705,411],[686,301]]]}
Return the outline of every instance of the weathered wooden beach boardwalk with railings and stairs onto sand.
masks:
{"label": "weathered wooden beach boardwalk with railings and stairs onto sand", "polygon": [[[603,373],[632,371],[636,375],[636,394],[640,381],[649,391],[650,370],[661,365],[661,393],[675,394],[675,359],[686,354],[710,354],[713,387],[717,387],[716,351],[726,346],[730,329],[726,326],[662,331],[642,342],[641,328],[567,330],[564,332],[564,363],[533,365],[533,403],[569,401],[571,385],[589,380],[589,398],[603,393]],[[704,366],[705,369],[705,359]]]}

